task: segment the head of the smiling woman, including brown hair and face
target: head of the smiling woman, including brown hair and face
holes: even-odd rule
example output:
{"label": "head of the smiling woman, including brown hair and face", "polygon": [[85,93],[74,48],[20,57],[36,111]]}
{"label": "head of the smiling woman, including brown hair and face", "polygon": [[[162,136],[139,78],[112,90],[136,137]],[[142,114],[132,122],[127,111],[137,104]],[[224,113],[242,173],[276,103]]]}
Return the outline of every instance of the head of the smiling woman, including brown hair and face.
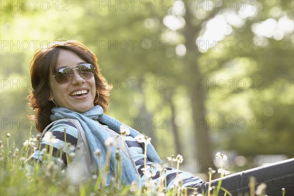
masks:
{"label": "head of the smiling woman, including brown hair and face", "polygon": [[[94,66],[88,70],[90,73],[71,69],[85,63]],[[60,68],[65,67],[69,67],[71,73],[64,73],[63,69],[63,73],[59,74]],[[30,74],[34,91],[28,99],[35,110],[33,119],[40,133],[51,123],[50,110],[56,105],[78,112],[85,112],[95,105],[100,105],[104,112],[107,110],[111,86],[100,73],[96,55],[81,43],[56,42],[40,49],[31,62]],[[87,93],[81,97],[72,95],[81,91]]]}

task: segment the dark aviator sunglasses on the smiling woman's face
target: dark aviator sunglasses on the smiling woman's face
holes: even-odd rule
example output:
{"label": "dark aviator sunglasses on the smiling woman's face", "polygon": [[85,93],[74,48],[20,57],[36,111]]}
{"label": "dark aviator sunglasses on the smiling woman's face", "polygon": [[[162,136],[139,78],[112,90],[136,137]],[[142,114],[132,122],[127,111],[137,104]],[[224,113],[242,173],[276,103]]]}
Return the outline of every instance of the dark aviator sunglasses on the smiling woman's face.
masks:
{"label": "dark aviator sunglasses on the smiling woman's face", "polygon": [[[73,68],[76,67],[76,68]],[[55,81],[59,84],[66,83],[73,79],[73,70],[77,70],[78,74],[84,78],[89,79],[94,76],[95,67],[92,64],[84,63],[70,67],[60,68],[53,74]],[[51,79],[50,77],[49,79]]]}

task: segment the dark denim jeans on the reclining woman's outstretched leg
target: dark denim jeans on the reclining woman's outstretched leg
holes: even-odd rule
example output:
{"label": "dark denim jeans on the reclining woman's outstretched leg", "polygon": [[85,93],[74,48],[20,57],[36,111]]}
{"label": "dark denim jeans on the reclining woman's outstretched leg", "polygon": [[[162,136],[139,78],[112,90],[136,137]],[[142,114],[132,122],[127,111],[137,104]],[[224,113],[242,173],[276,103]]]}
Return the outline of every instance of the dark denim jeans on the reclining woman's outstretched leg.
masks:
{"label": "dark denim jeans on the reclining woman's outstretched leg", "polygon": [[[266,194],[268,196],[282,196],[282,188],[286,190],[286,196],[294,196],[294,159],[276,162],[274,164],[238,172],[225,177],[212,180],[211,186],[218,186],[221,179],[221,187],[228,190],[233,196],[244,196],[249,194],[249,178],[254,176],[256,187],[261,183],[266,183]],[[207,193],[208,182],[202,182],[193,186],[198,188],[198,192]],[[219,196],[224,193],[220,192]]]}

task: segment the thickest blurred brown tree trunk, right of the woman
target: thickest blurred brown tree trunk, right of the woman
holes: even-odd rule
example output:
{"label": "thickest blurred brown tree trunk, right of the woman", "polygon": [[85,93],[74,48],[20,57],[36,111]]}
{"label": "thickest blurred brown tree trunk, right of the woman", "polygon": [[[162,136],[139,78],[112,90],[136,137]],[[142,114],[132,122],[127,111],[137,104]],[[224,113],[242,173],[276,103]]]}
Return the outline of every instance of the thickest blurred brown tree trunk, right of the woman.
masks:
{"label": "thickest blurred brown tree trunk, right of the woman", "polygon": [[[187,80],[187,87],[190,92],[192,113],[195,129],[195,142],[196,142],[196,167],[198,172],[207,172],[209,167],[214,167],[212,163],[212,150],[210,146],[209,129],[206,126],[206,111],[205,111],[205,99],[206,91],[204,88],[199,88],[197,81],[204,79],[197,64],[197,58],[200,54],[196,47],[196,36],[199,34],[201,25],[193,25],[192,14],[189,12],[189,5],[185,2],[186,14],[184,16],[186,25],[183,29],[183,35],[185,37],[185,46],[187,50],[186,54],[186,66],[188,68],[185,74]],[[215,13],[211,13],[214,15]],[[206,81],[206,80],[205,80]],[[200,125],[201,122],[201,125]]]}

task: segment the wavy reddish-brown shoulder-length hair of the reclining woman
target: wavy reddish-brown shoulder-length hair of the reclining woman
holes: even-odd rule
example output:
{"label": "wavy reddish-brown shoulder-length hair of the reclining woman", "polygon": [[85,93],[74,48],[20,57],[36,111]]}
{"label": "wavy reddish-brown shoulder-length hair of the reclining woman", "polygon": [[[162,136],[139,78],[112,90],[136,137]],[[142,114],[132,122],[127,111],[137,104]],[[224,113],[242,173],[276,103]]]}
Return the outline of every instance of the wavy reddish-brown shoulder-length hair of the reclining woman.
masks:
{"label": "wavy reddish-brown shoulder-length hair of the reclining woman", "polygon": [[[70,50],[77,54],[82,60],[95,66],[95,85],[99,95],[95,99],[98,101],[94,105],[100,105],[106,112],[109,105],[111,86],[100,73],[97,63],[97,57],[85,45],[77,41],[55,42],[46,49],[36,51],[30,63],[30,77],[33,90],[28,95],[28,105],[35,111],[31,116],[36,123],[36,129],[42,133],[45,127],[51,123],[51,109],[55,107],[52,101],[49,101],[49,73],[55,72],[55,65],[60,50]],[[99,96],[99,97],[98,97]]]}

